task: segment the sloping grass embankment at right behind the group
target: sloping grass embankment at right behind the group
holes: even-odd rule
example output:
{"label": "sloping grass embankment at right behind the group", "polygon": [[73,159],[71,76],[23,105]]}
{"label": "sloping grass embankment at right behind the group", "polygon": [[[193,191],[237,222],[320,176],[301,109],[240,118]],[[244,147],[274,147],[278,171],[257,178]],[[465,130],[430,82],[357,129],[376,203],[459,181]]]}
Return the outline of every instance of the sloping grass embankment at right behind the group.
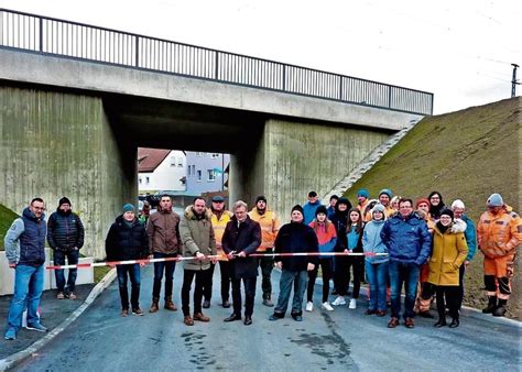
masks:
{"label": "sloping grass embankment at right behind the group", "polygon": [[[413,199],[437,190],[446,205],[463,199],[468,216],[477,221],[488,196],[500,193],[521,212],[521,107],[519,97],[423,119],[346,195],[354,203],[361,187],[368,188],[372,197],[382,188],[391,188],[395,195]],[[515,278],[520,274],[515,272]],[[469,306],[485,305],[482,275],[482,255],[478,252],[466,272]],[[516,282],[509,316],[520,319],[521,288]]]}

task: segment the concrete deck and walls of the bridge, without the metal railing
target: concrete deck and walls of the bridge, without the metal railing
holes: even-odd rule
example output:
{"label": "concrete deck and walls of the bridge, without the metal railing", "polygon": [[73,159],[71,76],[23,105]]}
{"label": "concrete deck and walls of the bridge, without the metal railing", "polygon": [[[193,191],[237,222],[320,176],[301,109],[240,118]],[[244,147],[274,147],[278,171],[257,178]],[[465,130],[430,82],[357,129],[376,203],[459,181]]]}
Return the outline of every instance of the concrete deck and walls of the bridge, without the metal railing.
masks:
{"label": "concrete deck and walls of the bridge, without the metal railing", "polygon": [[137,198],[138,146],[231,154],[230,199],[264,194],[287,220],[418,114],[0,50],[0,195],[47,212],[66,195],[102,258],[108,227]]}

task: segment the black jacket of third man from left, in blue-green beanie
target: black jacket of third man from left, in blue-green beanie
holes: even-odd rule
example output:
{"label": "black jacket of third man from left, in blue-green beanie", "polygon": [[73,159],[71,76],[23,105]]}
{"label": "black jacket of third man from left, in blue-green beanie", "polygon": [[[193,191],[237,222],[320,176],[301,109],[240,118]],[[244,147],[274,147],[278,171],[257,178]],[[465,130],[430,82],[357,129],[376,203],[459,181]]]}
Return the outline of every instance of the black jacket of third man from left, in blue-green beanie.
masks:
{"label": "black jacket of third man from left, in blue-green beanie", "polygon": [[107,233],[105,241],[107,261],[141,260],[149,254],[149,238],[145,227],[134,218],[129,228],[119,216]]}

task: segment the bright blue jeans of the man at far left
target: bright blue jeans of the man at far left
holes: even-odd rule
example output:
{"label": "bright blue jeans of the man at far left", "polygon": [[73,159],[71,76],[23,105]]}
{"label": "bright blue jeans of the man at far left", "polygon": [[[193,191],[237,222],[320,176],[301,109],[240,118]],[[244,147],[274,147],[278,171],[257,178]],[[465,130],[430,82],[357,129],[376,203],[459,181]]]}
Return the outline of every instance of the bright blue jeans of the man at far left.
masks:
{"label": "bright blue jeans of the man at far left", "polygon": [[22,314],[28,308],[28,325],[40,322],[37,309],[44,286],[44,265],[17,265],[14,271],[14,295],[9,307],[8,326],[19,330]]}

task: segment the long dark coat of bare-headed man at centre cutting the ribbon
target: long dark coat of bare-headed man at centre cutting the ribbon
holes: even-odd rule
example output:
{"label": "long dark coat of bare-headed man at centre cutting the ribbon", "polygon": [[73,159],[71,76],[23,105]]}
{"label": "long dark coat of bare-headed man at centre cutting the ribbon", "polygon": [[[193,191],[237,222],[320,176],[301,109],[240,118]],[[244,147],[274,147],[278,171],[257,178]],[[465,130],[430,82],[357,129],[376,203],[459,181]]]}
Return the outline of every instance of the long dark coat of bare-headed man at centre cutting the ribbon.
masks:
{"label": "long dark coat of bare-headed man at centre cutting the ribbon", "polygon": [[246,258],[235,258],[230,261],[231,278],[253,278],[258,276],[258,259],[249,258],[261,245],[261,227],[247,216],[244,222],[238,227],[236,216],[227,223],[221,239],[225,253],[232,251],[247,253]]}

